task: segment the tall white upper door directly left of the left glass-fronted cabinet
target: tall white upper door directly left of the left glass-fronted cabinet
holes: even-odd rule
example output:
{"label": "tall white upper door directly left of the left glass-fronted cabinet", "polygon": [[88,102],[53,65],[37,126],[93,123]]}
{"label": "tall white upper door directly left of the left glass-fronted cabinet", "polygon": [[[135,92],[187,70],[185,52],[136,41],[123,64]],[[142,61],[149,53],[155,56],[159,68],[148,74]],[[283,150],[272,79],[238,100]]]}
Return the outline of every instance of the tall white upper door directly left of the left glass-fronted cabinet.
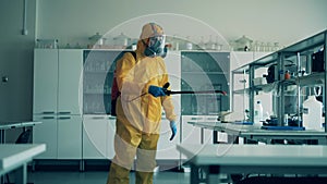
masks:
{"label": "tall white upper door directly left of the left glass-fronted cabinet", "polygon": [[82,50],[59,50],[58,113],[82,113]]}

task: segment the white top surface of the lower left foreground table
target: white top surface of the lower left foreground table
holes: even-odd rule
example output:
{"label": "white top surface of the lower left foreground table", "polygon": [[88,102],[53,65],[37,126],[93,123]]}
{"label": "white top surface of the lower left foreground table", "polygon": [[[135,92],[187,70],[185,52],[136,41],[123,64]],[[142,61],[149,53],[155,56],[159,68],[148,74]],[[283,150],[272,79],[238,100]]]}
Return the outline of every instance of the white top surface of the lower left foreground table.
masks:
{"label": "white top surface of the lower left foreground table", "polygon": [[0,144],[0,175],[46,150],[45,144]]}

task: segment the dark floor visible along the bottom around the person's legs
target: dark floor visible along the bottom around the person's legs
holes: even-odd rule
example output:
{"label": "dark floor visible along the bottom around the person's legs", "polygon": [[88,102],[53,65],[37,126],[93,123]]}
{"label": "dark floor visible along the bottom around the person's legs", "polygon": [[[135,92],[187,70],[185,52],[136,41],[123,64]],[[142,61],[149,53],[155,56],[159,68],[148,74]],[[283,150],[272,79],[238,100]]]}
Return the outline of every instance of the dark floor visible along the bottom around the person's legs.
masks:
{"label": "dark floor visible along the bottom around the person's legs", "polygon": [[[106,184],[106,171],[35,171],[28,173],[27,181],[34,184]],[[131,172],[130,183],[135,183],[134,173]],[[190,173],[158,172],[154,176],[155,184],[187,184]]]}

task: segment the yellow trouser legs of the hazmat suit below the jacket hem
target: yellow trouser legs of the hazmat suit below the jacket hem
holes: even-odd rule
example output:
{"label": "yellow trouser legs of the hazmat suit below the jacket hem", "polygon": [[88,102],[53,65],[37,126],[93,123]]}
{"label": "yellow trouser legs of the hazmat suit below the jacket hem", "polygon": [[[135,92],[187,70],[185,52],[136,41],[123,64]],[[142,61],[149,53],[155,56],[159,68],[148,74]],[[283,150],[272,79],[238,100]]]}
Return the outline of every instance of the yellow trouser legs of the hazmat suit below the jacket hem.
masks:
{"label": "yellow trouser legs of the hazmat suit below the jacket hem", "polygon": [[116,156],[110,165],[107,184],[129,184],[135,156],[136,184],[152,184],[158,139],[158,134],[144,134],[131,125],[117,123]]}

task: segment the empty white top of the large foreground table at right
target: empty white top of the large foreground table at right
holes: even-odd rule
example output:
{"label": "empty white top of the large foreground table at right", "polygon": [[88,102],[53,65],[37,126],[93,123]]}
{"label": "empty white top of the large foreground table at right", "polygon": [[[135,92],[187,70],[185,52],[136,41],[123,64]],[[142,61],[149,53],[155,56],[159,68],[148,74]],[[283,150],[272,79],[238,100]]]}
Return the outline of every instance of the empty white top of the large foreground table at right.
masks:
{"label": "empty white top of the large foreground table at right", "polygon": [[199,165],[314,165],[327,167],[327,146],[322,145],[178,145]]}

